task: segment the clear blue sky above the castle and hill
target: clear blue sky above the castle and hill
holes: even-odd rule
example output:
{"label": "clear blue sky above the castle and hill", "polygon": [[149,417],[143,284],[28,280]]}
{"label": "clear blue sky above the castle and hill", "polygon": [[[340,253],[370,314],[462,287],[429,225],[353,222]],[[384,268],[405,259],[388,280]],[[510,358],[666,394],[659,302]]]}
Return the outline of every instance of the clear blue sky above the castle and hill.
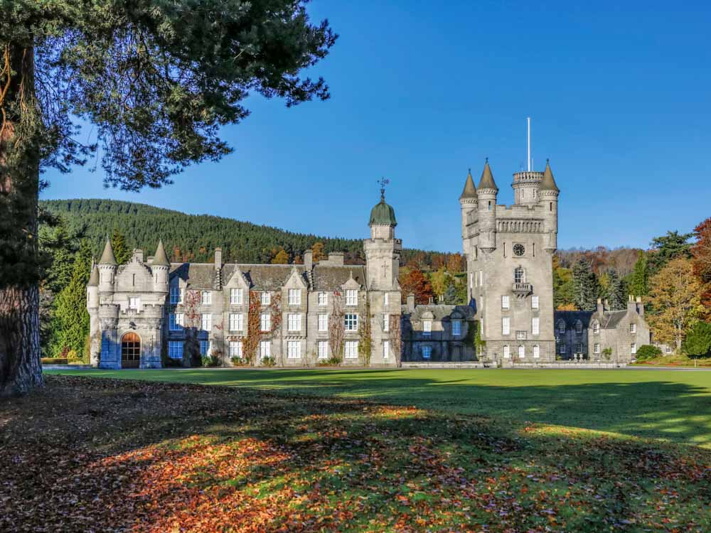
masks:
{"label": "clear blue sky above the castle and hill", "polygon": [[[327,102],[250,98],[235,152],[161,190],[48,173],[42,198],[114,198],[296,232],[365,237],[380,176],[406,247],[461,249],[459,194],[488,156],[512,203],[533,117],[561,248],[646,247],[711,215],[711,4],[324,1],[340,38],[311,72]],[[278,243],[275,243],[278,244]]]}

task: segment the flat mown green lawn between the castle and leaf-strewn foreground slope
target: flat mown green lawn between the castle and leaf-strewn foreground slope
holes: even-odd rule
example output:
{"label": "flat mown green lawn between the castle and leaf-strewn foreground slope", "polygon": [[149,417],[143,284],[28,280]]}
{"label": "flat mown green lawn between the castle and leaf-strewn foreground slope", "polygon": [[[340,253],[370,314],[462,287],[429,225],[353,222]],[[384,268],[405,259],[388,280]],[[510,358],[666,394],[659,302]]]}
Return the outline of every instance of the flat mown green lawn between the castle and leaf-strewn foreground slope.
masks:
{"label": "flat mown green lawn between the castle and leaf-strewn foreground slope", "polygon": [[711,448],[711,372],[665,370],[53,370],[370,399]]}

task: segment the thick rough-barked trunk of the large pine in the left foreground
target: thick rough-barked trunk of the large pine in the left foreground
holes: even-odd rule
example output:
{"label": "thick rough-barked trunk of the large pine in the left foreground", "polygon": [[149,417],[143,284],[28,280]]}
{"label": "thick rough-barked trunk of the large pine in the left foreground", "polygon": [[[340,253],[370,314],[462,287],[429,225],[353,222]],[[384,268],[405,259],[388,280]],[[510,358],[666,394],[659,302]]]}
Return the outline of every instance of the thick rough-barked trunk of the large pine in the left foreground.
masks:
{"label": "thick rough-barked trunk of the large pine in the left foreground", "polygon": [[39,338],[37,200],[41,119],[33,48],[1,49],[0,397],[43,384]]}

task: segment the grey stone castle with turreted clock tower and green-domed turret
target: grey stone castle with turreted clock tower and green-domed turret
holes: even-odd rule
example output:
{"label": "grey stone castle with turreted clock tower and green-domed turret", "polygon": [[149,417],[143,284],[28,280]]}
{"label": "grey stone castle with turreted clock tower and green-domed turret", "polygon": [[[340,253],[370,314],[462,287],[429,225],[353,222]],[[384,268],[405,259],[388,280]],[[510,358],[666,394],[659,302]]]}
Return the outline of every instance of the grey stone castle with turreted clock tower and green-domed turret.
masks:
{"label": "grey stone castle with turreted clock tower and green-domed turret", "polygon": [[649,343],[641,302],[622,311],[602,302],[589,313],[554,310],[560,190],[550,164],[515,173],[512,187],[515,203],[497,205],[488,161],[478,187],[471,171],[466,177],[461,306],[417,305],[412,295],[402,303],[402,241],[383,189],[370,211],[365,265],[344,264],[342,253],[314,261],[309,250],[298,265],[223,263],[219,248],[213,263],[171,263],[159,242],[154,256],[134,250],[119,266],[107,240],[87,285],[91,363],[159,368],[200,355],[220,366],[629,362]]}

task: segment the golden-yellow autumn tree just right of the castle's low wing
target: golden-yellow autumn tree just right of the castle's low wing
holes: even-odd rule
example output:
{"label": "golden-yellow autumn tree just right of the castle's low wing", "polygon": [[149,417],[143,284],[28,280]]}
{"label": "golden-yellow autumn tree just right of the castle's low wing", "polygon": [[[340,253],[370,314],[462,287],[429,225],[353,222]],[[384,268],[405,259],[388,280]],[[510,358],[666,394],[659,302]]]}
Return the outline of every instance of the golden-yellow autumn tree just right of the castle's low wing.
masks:
{"label": "golden-yellow autumn tree just right of the castle's low wing", "polygon": [[689,259],[677,257],[649,280],[649,298],[655,313],[648,315],[655,338],[681,348],[686,330],[702,316],[700,284]]}

